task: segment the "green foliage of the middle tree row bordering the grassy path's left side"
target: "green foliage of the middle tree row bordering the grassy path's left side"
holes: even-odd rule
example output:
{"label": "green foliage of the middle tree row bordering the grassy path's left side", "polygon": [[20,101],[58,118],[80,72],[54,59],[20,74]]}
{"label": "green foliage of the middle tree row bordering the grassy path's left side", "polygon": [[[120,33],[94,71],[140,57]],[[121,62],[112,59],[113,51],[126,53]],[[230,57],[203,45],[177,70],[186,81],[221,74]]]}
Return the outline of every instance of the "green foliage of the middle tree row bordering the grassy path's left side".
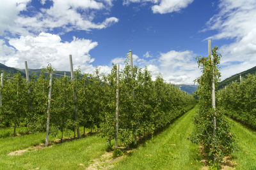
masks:
{"label": "green foliage of the middle tree row bordering the grassy path's left side", "polygon": [[[116,66],[105,79],[104,87],[108,97],[104,99],[101,132],[110,142],[111,139],[115,139]],[[126,147],[135,147],[137,137],[146,133],[153,134],[195,105],[193,96],[180,91],[170,83],[165,83],[161,76],[153,81],[147,67],[131,68],[128,58],[123,71],[120,72],[118,88],[118,139]]]}

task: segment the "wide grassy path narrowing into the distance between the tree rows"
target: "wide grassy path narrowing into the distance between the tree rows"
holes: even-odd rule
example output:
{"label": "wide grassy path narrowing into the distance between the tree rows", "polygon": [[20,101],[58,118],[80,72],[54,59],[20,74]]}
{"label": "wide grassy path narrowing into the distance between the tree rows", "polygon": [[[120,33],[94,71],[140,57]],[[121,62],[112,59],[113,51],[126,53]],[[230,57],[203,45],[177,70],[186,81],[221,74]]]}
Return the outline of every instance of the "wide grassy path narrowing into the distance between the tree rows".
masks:
{"label": "wide grassy path narrowing into the distance between the tree rows", "polygon": [[188,111],[173,124],[118,162],[113,169],[200,169],[198,145],[186,138],[193,131],[193,115]]}

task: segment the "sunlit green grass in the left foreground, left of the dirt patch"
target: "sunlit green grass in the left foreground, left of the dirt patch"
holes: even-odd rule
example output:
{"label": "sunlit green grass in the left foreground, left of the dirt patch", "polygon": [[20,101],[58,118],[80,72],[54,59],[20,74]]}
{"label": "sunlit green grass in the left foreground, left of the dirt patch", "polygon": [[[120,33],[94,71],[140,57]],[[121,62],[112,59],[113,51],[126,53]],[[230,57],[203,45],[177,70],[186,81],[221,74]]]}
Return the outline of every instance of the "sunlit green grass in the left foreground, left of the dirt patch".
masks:
{"label": "sunlit green grass in the left foreground, left of the dirt patch", "polygon": [[[83,128],[81,128],[82,130]],[[86,131],[90,131],[86,129]],[[71,134],[72,135],[72,134]],[[67,137],[67,134],[65,134]],[[50,140],[60,138],[60,134]],[[45,141],[45,133],[0,138],[0,169],[84,169],[90,160],[105,152],[105,140],[98,134],[66,141],[41,150],[10,156],[8,153]],[[81,165],[79,165],[81,164]]]}

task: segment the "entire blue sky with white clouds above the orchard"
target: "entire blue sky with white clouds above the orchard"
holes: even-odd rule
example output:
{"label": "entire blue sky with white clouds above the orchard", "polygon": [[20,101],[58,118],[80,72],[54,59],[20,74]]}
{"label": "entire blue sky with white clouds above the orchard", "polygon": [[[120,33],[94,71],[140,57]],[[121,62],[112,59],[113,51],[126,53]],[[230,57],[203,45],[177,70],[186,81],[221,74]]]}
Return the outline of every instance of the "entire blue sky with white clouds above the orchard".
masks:
{"label": "entire blue sky with white clouds above the orchard", "polygon": [[30,69],[51,63],[107,74],[112,63],[134,64],[153,79],[193,84],[207,56],[221,53],[221,79],[256,66],[255,0],[0,0],[0,63]]}

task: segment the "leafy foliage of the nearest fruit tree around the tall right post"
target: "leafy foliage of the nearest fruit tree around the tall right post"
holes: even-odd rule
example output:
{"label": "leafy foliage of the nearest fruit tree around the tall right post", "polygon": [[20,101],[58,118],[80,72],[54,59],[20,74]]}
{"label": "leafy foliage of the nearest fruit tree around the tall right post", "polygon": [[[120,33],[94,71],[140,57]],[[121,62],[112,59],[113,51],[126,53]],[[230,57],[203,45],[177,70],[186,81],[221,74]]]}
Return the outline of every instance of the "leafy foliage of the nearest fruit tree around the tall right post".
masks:
{"label": "leafy foliage of the nearest fruit tree around the tall right post", "polygon": [[[221,55],[217,52],[218,47],[212,49],[211,57],[196,57],[198,67],[202,69],[202,76],[195,81],[199,83],[196,95],[199,97],[198,114],[195,117],[196,131],[191,135],[193,143],[200,143],[204,151],[212,160],[213,164],[219,164],[225,155],[234,150],[234,134],[230,132],[230,125],[223,116],[218,106],[212,108],[212,80],[215,81],[215,88],[220,80],[219,64]],[[214,76],[214,79],[212,77]],[[216,118],[216,131],[214,131],[213,119]]]}

